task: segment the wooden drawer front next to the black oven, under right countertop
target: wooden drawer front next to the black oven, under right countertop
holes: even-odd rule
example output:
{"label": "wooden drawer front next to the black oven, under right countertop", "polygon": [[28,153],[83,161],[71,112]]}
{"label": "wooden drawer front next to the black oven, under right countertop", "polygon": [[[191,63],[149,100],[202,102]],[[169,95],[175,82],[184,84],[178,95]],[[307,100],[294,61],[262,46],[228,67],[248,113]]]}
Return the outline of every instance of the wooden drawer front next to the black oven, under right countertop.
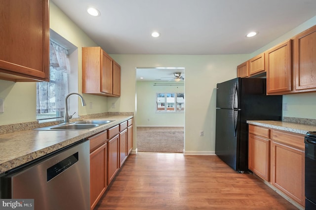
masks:
{"label": "wooden drawer front next to the black oven, under right countertop", "polygon": [[304,135],[271,130],[271,139],[305,151]]}

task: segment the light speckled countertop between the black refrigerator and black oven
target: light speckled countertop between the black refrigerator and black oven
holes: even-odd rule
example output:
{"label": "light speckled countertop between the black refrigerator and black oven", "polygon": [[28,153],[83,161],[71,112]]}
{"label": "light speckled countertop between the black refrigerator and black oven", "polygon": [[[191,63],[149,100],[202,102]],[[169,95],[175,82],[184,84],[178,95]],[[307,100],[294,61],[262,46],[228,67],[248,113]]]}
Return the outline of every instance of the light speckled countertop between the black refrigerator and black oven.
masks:
{"label": "light speckled countertop between the black refrigerator and black oven", "polygon": [[268,128],[274,128],[282,131],[293,132],[297,134],[306,134],[309,131],[316,131],[315,125],[284,122],[284,121],[271,121],[271,120],[247,120],[248,124],[259,125]]}

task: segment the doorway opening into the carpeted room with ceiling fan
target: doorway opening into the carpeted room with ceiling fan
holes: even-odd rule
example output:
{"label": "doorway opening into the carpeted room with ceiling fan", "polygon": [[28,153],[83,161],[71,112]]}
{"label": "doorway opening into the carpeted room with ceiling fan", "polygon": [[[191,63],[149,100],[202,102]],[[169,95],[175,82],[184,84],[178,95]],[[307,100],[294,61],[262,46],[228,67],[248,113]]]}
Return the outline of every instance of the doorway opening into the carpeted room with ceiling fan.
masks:
{"label": "doorway opening into the carpeted room with ceiling fan", "polygon": [[184,152],[184,68],[136,68],[138,152]]}

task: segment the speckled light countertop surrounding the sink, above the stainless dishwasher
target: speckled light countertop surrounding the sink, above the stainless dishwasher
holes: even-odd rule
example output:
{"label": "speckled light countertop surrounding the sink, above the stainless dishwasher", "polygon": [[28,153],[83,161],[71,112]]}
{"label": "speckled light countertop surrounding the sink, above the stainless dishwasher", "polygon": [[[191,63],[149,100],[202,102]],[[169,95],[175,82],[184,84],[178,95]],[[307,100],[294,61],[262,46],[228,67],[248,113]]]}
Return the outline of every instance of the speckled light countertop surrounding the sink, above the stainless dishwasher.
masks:
{"label": "speckled light countertop surrounding the sink, above the stainless dishwasher", "polygon": [[101,118],[93,118],[114,121],[88,130],[25,130],[2,134],[0,135],[0,174],[107,130],[132,117],[132,115],[108,115]]}

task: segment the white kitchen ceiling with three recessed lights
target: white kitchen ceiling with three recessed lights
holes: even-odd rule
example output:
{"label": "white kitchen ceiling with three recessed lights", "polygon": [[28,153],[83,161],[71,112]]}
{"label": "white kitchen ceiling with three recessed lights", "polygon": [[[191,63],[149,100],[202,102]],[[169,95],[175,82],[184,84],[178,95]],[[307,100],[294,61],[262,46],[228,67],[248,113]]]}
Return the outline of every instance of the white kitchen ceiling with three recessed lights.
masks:
{"label": "white kitchen ceiling with three recessed lights", "polygon": [[109,54],[248,54],[316,16],[316,0],[52,1]]}

